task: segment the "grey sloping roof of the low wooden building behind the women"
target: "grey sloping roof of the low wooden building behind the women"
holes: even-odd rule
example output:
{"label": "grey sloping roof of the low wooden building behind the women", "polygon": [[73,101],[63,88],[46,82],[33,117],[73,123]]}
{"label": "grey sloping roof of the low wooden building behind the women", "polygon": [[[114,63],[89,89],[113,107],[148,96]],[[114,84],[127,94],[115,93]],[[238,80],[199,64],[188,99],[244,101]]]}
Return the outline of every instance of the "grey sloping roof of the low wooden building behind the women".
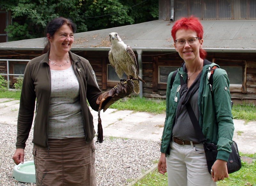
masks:
{"label": "grey sloping roof of the low wooden building behind the women", "polygon": [[[204,44],[208,50],[256,52],[256,20],[203,20]],[[73,50],[109,50],[108,35],[117,32],[133,49],[173,51],[171,29],[174,22],[156,20],[135,25],[76,33]],[[0,43],[0,49],[42,50],[44,38]],[[207,49],[208,48],[208,49]],[[160,49],[160,50],[159,50]]]}

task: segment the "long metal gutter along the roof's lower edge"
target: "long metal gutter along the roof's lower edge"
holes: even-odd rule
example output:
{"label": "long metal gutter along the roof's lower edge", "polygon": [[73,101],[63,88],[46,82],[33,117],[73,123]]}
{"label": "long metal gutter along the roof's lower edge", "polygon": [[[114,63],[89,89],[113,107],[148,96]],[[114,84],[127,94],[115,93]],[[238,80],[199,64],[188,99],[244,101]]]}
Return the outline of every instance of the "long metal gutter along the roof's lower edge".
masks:
{"label": "long metal gutter along the roof's lower edge", "polygon": [[[0,47],[0,50],[43,50],[44,47]],[[143,52],[176,52],[175,48],[132,48]],[[206,52],[256,53],[256,48],[203,48]],[[71,51],[109,51],[110,47],[73,47]]]}

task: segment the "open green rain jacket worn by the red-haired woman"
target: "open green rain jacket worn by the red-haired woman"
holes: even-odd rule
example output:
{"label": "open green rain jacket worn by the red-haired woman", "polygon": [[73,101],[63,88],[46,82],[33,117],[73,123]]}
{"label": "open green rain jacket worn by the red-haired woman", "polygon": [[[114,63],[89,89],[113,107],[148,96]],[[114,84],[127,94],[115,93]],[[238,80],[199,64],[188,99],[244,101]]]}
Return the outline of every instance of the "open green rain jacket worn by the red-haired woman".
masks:
{"label": "open green rain jacket worn by the red-haired woman", "polygon": [[[206,143],[217,145],[217,159],[228,161],[231,153],[232,138],[234,133],[234,123],[231,113],[231,96],[229,93],[229,80],[227,72],[223,69],[216,69],[213,73],[212,93],[209,83],[209,67],[218,66],[204,60],[203,72],[200,80],[198,92],[199,125],[206,138]],[[219,66],[218,66],[219,67]],[[169,145],[172,137],[172,127],[180,93],[177,93],[178,101],[174,101],[177,87],[180,85],[180,74],[183,75],[184,82],[187,73],[182,67],[178,69],[172,89],[170,87],[173,72],[168,76],[166,89],[166,118],[161,142],[161,152],[169,154]],[[209,78],[208,78],[209,77]],[[213,97],[212,97],[213,95]]]}

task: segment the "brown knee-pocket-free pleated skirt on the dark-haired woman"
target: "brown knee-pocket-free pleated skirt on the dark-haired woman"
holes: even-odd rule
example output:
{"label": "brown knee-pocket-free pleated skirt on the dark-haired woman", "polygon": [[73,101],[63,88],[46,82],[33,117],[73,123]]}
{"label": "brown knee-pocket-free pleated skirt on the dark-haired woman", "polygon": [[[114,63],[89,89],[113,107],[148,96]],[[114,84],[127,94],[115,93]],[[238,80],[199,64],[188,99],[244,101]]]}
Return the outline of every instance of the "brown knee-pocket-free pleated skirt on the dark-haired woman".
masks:
{"label": "brown knee-pocket-free pleated skirt on the dark-haired woman", "polygon": [[34,145],[37,186],[96,186],[95,147],[84,138],[49,139],[49,151]]}

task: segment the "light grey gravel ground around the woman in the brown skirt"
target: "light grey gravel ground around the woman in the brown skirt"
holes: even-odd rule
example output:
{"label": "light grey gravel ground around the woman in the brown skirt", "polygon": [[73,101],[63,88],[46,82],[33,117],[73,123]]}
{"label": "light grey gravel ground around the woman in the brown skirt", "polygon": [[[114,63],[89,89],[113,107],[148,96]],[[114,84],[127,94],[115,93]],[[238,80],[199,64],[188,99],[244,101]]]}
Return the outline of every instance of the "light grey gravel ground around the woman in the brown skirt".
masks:
{"label": "light grey gravel ground around the woman in the brown skirt", "polygon": [[[0,185],[24,186],[34,183],[21,183],[12,178],[17,126],[0,124]],[[33,160],[31,130],[25,149],[25,161]],[[160,156],[158,142],[104,137],[96,146],[96,179],[98,186],[124,186],[146,172]]]}

